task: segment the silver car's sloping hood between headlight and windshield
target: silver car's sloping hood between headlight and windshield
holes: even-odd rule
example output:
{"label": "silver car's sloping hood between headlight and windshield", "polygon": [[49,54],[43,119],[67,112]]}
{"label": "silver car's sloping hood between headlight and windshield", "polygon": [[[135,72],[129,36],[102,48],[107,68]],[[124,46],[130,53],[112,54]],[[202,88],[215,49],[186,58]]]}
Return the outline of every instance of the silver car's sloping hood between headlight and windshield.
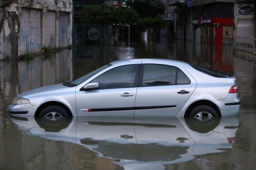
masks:
{"label": "silver car's sloping hood between headlight and windshield", "polygon": [[52,91],[52,90],[57,90],[57,89],[59,90],[59,89],[63,89],[63,88],[70,88],[70,87],[64,86],[62,83],[60,83],[60,84],[35,88],[33,90],[29,90],[24,93],[18,94],[17,96],[21,97],[21,98],[26,98],[27,96],[34,95],[35,93],[38,94],[41,92],[47,92],[47,91]]}

